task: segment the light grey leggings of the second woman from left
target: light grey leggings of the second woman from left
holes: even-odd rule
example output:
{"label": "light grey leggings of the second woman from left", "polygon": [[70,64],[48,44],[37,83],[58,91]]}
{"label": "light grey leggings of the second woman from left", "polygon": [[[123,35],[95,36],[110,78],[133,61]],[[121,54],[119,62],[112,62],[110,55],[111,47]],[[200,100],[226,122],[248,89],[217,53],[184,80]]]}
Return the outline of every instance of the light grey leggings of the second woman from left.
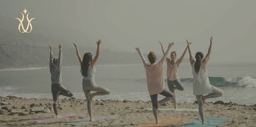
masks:
{"label": "light grey leggings of the second woman from left", "polygon": [[110,90],[99,86],[95,83],[95,80],[83,80],[83,92],[85,92],[85,97],[87,100],[87,109],[92,109],[92,101],[91,101],[91,91],[100,92],[101,95],[110,94]]}

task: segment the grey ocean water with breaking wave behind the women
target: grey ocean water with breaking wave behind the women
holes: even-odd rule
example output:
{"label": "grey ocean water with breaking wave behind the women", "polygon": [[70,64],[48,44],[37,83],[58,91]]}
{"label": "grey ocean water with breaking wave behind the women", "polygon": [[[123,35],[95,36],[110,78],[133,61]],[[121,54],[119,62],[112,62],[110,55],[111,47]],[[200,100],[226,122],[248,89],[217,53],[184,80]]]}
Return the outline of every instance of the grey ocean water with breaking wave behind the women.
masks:
{"label": "grey ocean water with breaking wave behind the women", "polygon": [[[140,64],[95,66],[95,82],[110,89],[109,95],[97,96],[94,100],[143,100],[149,101],[146,72]],[[165,88],[167,86],[166,63],[164,67]],[[256,104],[256,61],[212,62],[207,64],[210,83],[224,95],[207,99],[207,102],[218,100],[237,104]],[[181,63],[178,76],[185,86],[184,91],[176,90],[177,102],[194,103],[192,92],[193,77],[189,63]],[[82,89],[83,77],[80,67],[62,67],[62,84],[73,92],[73,97],[86,99]],[[49,67],[30,69],[0,70],[0,96],[7,95],[22,98],[52,98]],[[60,98],[68,98],[61,96]],[[164,98],[158,95],[158,100]]]}

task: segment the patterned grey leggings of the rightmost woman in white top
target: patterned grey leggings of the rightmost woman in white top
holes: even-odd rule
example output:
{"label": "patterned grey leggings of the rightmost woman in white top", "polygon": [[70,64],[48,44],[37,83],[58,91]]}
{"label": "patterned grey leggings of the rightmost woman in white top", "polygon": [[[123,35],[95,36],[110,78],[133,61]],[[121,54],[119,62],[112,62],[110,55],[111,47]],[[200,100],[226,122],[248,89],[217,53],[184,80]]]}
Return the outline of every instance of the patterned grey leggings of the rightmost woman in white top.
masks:
{"label": "patterned grey leggings of the rightmost woman in white top", "polygon": [[[224,94],[224,92],[219,89],[216,88],[215,86],[212,86],[212,93],[210,93],[209,95],[206,95],[207,98],[215,98],[215,97],[221,97]],[[199,110],[199,114],[201,117],[202,122],[205,122],[204,120],[204,103],[203,103],[203,95],[196,95],[195,97],[197,97],[197,102],[198,102],[198,110]]]}

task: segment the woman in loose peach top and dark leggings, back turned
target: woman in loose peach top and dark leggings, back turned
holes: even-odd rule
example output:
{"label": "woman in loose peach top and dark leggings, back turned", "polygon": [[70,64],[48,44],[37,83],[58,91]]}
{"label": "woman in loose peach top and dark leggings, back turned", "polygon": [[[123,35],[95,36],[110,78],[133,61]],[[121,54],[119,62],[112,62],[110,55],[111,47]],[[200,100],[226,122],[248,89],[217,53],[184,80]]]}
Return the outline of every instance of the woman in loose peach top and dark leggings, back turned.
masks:
{"label": "woman in loose peach top and dark leggings, back turned", "polygon": [[[173,46],[173,44],[174,43],[169,43],[164,57],[162,57],[158,63],[156,63],[156,55],[150,51],[149,55],[147,55],[150,64],[147,63],[146,59],[141,54],[140,48],[135,48],[138,51],[138,54],[140,55],[146,69],[147,89],[149,90],[150,98],[152,100],[153,114],[155,116],[156,123],[159,123],[158,108],[160,104],[165,103],[166,101],[174,100],[175,98],[175,95],[171,91],[168,91],[164,88],[164,61],[166,60],[168,52],[170,51],[170,48]],[[161,101],[157,101],[158,94],[164,95],[165,98]]]}

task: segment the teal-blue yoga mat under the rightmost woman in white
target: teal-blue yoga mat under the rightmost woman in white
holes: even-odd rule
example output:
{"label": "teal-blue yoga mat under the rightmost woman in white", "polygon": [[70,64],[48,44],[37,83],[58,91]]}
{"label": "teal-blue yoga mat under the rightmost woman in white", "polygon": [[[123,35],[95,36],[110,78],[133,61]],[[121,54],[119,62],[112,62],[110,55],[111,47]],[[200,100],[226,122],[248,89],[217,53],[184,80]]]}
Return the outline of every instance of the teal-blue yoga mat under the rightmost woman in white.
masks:
{"label": "teal-blue yoga mat under the rightmost woman in white", "polygon": [[190,123],[189,125],[186,125],[185,127],[212,127],[216,125],[222,125],[222,123],[226,122],[230,118],[206,117],[204,119],[206,120],[207,124],[202,124],[202,120],[195,120],[194,122]]}

